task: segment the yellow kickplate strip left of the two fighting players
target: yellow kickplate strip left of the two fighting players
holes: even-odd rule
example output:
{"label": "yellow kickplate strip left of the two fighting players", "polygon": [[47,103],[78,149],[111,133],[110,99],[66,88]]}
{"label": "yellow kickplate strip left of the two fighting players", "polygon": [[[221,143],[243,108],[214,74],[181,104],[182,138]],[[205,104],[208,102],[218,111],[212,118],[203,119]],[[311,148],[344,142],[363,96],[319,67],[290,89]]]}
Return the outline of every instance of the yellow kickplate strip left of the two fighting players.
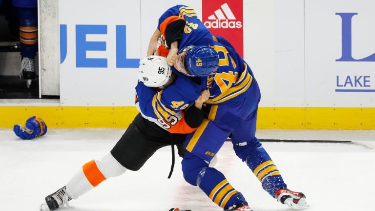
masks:
{"label": "yellow kickplate strip left of the two fighting players", "polygon": [[0,127],[24,125],[29,117],[40,117],[48,128],[117,127],[126,128],[138,114],[135,106],[125,107],[61,107],[0,106]]}

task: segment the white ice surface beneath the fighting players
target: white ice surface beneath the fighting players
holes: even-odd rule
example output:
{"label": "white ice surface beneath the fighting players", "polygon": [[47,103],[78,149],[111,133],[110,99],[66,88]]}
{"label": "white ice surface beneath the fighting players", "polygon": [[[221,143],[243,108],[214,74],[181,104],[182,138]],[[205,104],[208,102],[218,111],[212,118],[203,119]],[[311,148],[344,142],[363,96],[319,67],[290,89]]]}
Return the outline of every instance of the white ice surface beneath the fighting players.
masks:
{"label": "white ice surface beneath the fighting players", "polygon": [[[22,141],[0,128],[0,211],[38,211],[44,197],[66,184],[82,165],[106,154],[124,129],[49,129]],[[359,144],[264,143],[288,187],[302,191],[308,211],[375,210],[375,131],[258,130],[257,137],[358,141]],[[366,144],[366,145],[363,145]],[[291,211],[264,191],[230,142],[216,168],[241,191],[254,211]],[[187,184],[170,147],[157,151],[139,171],[104,181],[70,205],[72,211],[221,211],[197,187]],[[67,208],[62,209],[67,211]]]}

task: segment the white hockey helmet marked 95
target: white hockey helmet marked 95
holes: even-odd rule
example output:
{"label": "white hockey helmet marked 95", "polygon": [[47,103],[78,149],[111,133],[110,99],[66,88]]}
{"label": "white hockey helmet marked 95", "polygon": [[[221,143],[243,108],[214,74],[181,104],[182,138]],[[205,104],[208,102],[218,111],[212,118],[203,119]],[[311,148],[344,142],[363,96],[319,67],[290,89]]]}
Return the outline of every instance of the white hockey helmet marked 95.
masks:
{"label": "white hockey helmet marked 95", "polygon": [[167,59],[161,56],[149,56],[139,62],[138,79],[149,87],[165,85],[172,75]]}

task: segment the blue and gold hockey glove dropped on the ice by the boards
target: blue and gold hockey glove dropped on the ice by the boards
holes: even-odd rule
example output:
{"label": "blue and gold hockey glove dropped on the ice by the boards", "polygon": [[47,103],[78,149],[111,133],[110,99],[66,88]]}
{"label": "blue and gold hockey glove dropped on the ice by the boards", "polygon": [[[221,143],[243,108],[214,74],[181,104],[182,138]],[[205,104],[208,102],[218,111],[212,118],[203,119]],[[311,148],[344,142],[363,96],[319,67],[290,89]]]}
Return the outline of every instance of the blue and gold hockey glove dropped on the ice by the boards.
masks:
{"label": "blue and gold hockey glove dropped on the ice by the boards", "polygon": [[21,125],[15,125],[13,131],[21,139],[30,140],[44,135],[47,132],[47,126],[41,118],[33,116],[26,121],[24,127]]}

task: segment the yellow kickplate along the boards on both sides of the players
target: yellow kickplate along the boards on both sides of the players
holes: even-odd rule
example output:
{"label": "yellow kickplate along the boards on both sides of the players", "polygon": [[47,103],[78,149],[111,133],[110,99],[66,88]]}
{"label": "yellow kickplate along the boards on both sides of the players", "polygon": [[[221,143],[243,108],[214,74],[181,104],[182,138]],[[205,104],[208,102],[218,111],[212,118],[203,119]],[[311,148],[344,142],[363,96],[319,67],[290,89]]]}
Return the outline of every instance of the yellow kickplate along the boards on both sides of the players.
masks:
{"label": "yellow kickplate along the boards on both sides of the players", "polygon": [[[127,127],[135,106],[0,106],[0,127],[37,116],[47,127]],[[374,107],[259,107],[258,129],[375,129]]]}

